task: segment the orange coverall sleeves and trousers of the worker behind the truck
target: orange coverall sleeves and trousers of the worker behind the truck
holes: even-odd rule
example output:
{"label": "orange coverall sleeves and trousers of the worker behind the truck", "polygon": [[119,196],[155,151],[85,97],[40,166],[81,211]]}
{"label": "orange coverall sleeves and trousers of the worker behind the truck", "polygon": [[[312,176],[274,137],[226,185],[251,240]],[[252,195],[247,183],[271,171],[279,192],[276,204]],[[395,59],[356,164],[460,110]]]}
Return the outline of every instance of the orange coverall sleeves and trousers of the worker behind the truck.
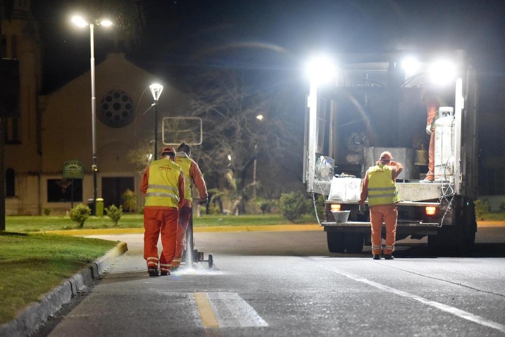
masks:
{"label": "orange coverall sleeves and trousers of the worker behind the truck", "polygon": [[[396,181],[396,177],[403,170],[403,165],[391,161],[391,179]],[[368,171],[363,180],[363,189],[361,190],[360,204],[365,205],[368,198]],[[394,242],[396,241],[396,221],[398,220],[398,210],[396,204],[374,205],[370,206],[370,223],[372,227],[372,254],[379,255],[382,250],[382,222],[386,223],[386,247],[384,254],[391,254],[394,251]]]}

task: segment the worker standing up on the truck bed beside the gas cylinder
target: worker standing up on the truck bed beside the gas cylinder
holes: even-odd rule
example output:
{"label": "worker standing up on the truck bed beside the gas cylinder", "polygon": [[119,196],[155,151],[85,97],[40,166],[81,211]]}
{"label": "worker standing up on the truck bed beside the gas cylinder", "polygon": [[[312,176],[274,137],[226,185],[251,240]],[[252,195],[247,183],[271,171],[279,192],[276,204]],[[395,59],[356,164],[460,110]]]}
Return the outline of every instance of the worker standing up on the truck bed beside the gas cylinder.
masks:
{"label": "worker standing up on the truck bed beside the gas cylinder", "polygon": [[426,133],[430,135],[430,147],[428,150],[428,173],[426,173],[426,178],[419,182],[431,183],[435,180],[435,121],[438,118],[438,109],[441,104],[442,106],[446,106],[446,104],[430,91],[425,90],[422,96],[423,101],[426,102],[426,110],[428,112]]}

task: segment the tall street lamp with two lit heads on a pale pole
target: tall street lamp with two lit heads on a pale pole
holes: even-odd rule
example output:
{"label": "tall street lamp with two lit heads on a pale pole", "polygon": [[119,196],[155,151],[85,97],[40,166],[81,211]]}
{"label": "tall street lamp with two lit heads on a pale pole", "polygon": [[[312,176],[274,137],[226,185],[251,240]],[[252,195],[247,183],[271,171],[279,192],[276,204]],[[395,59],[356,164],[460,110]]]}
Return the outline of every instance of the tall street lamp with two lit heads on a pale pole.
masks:
{"label": "tall street lamp with two lit heads on a pale pole", "polygon": [[96,97],[95,97],[95,72],[94,72],[94,25],[103,25],[109,27],[112,25],[110,20],[102,20],[98,23],[88,23],[80,16],[72,17],[72,22],[79,27],[89,26],[89,45],[91,50],[91,138],[93,159],[91,162],[91,171],[93,171],[93,212],[96,215],[96,174],[98,167],[96,166]]}

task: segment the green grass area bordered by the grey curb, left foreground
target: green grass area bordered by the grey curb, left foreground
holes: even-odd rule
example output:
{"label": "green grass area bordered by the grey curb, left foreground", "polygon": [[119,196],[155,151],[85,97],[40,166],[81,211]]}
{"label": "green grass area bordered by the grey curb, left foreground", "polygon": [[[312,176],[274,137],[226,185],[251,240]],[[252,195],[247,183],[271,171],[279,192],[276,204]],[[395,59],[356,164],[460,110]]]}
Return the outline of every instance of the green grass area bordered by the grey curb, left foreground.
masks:
{"label": "green grass area bordered by the grey curb, left foreground", "polygon": [[66,235],[0,232],[0,324],[116,244]]}

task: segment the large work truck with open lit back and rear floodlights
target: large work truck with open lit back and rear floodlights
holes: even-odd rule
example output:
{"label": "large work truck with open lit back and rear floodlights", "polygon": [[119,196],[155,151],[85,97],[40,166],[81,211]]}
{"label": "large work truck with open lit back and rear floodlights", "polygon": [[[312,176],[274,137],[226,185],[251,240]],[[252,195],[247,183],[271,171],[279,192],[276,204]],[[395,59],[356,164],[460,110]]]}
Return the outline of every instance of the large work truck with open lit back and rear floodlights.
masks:
{"label": "large work truck with open lit back and rear floodlights", "polygon": [[[428,171],[427,92],[443,103],[435,122],[435,181],[420,183]],[[318,221],[331,253],[360,253],[371,245],[370,217],[359,213],[356,193],[339,200],[329,196],[338,179],[364,178],[382,151],[405,166],[396,179],[396,240],[428,236],[434,254],[471,253],[477,231],[477,100],[476,71],[463,50],[339,55],[330,85],[311,82],[304,182],[314,204],[318,195],[324,198]],[[321,170],[323,162],[330,163],[329,171]],[[342,211],[349,211],[347,219],[336,216]]]}

